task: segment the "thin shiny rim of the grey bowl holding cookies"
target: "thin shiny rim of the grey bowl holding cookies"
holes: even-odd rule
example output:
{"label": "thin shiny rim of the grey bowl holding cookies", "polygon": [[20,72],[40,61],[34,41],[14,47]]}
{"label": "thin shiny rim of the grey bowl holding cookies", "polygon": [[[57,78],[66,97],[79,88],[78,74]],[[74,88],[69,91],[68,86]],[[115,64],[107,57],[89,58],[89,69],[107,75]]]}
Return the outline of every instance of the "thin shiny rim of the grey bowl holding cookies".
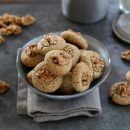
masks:
{"label": "thin shiny rim of the grey bowl holding cookies", "polygon": [[[60,32],[53,32],[55,34],[58,34]],[[102,77],[102,80],[99,81],[94,87],[91,87],[90,89],[88,89],[87,91],[84,91],[84,92],[81,92],[81,93],[76,93],[76,94],[72,94],[72,95],[51,95],[51,94],[47,94],[47,93],[43,93],[41,92],[40,90],[38,90],[37,88],[33,87],[29,82],[27,82],[23,76],[22,76],[22,73],[20,72],[20,65],[19,63],[21,62],[20,60],[20,54],[22,52],[22,49],[24,47],[27,46],[27,44],[31,43],[32,41],[34,40],[37,40],[37,39],[40,39],[42,36],[38,36],[36,38],[33,38],[32,40],[28,41],[24,46],[22,46],[22,48],[19,48],[18,49],[18,52],[17,52],[17,58],[16,58],[16,67],[17,67],[17,71],[18,71],[18,74],[20,74],[20,77],[22,78],[22,80],[24,81],[25,84],[27,84],[27,86],[33,90],[33,92],[43,96],[43,97],[46,97],[46,98],[49,98],[49,99],[55,99],[55,100],[66,100],[66,99],[73,99],[73,98],[78,98],[78,97],[81,97],[81,96],[84,96],[88,93],[90,93],[91,91],[93,91],[95,88],[99,87],[105,80],[106,78],[108,77],[109,73],[110,73],[110,70],[111,70],[111,59],[110,59],[110,54],[108,52],[108,50],[105,48],[105,46],[103,44],[101,44],[98,40],[96,40],[95,38],[89,36],[89,35],[86,35],[86,34],[83,34],[83,36],[86,36],[86,37],[89,37],[89,38],[92,38],[94,39],[98,44],[99,46],[101,46],[104,51],[107,53],[107,56],[109,57],[108,59],[108,63],[109,63],[109,66],[108,66],[108,69],[106,71],[106,75],[104,77]]]}

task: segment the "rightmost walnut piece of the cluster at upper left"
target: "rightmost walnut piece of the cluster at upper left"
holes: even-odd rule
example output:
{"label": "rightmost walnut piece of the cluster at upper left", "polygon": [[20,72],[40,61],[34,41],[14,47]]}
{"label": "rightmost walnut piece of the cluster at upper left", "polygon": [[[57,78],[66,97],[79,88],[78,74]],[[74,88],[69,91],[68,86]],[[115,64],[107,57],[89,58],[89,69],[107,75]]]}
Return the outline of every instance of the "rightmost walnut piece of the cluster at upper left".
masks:
{"label": "rightmost walnut piece of the cluster at upper left", "polygon": [[23,16],[21,20],[22,20],[22,25],[24,26],[31,25],[36,21],[36,19],[31,15]]}

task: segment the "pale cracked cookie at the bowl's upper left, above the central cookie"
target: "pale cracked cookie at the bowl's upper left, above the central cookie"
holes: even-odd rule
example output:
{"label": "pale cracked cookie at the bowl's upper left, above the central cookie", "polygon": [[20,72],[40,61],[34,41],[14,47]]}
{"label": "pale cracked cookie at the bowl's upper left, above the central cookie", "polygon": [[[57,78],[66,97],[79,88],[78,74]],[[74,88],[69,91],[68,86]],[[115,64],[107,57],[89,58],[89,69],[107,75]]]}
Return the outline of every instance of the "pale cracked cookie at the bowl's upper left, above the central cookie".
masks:
{"label": "pale cracked cookie at the bowl's upper left, above the central cookie", "polygon": [[53,33],[44,35],[43,38],[38,42],[37,49],[41,54],[46,54],[51,50],[61,50],[65,46],[65,40]]}

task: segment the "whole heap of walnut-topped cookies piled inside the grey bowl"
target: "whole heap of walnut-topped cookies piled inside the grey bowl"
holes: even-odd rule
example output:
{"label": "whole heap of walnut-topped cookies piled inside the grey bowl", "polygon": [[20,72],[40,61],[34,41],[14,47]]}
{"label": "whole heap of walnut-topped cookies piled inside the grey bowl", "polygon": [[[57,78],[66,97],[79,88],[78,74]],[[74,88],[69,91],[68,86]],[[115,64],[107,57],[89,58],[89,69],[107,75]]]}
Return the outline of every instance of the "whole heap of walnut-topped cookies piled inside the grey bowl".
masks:
{"label": "whole heap of walnut-topped cookies piled inside the grey bowl", "polygon": [[86,91],[105,67],[103,58],[87,48],[81,33],[70,29],[44,35],[21,53],[21,62],[31,68],[26,75],[29,83],[43,93]]}

